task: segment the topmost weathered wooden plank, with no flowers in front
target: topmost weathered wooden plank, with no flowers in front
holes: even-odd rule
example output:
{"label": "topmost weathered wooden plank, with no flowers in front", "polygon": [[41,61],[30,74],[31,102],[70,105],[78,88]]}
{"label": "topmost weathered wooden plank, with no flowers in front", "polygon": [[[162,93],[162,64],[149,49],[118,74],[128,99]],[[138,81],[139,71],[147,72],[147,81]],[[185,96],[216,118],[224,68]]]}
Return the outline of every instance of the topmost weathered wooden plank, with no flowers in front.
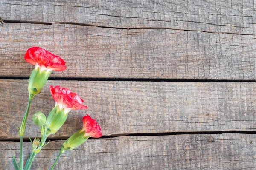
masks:
{"label": "topmost weathered wooden plank, with no flowers in front", "polygon": [[2,0],[4,20],[256,34],[253,0]]}

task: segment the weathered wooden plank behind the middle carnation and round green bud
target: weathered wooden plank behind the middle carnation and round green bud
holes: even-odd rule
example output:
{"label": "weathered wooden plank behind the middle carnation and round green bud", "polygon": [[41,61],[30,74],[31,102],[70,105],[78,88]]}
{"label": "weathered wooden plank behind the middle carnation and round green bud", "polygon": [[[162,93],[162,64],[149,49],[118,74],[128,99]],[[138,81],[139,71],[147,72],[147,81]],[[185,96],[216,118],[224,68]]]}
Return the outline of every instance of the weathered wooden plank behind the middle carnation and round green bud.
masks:
{"label": "weathered wooden plank behind the middle carnation and round green bud", "polygon": [[[27,80],[0,80],[0,139],[17,139],[27,105]],[[28,135],[40,136],[32,113],[48,115],[55,106],[49,85],[79,94],[89,109],[71,111],[55,134],[67,137],[81,129],[87,113],[103,135],[158,132],[254,131],[256,83],[48,81],[32,102]]]}

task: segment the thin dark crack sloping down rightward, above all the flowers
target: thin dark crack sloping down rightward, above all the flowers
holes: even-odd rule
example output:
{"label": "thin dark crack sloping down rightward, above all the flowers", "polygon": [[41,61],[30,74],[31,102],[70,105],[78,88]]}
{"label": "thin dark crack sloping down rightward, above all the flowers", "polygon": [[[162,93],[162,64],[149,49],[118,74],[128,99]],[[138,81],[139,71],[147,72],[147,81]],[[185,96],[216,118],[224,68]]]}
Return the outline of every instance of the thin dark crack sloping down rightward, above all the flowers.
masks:
{"label": "thin dark crack sloping down rightward, above all the flowers", "polygon": [[[74,23],[74,22],[36,22],[36,21],[22,21],[22,20],[1,20],[3,23],[27,23],[27,24],[43,24],[43,25],[54,25],[54,24],[70,24],[70,25],[79,25],[79,26],[91,26],[99,28],[112,28],[112,29],[160,29],[160,30],[179,30],[179,31],[199,31],[212,34],[234,34],[234,35],[251,35],[255,36],[256,34],[240,34],[240,33],[231,33],[231,32],[214,32],[214,31],[202,31],[202,30],[193,30],[193,29],[178,29],[178,28],[155,28],[155,27],[141,27],[141,28],[125,28],[125,27],[110,27],[110,26],[97,26],[93,24],[84,24],[84,23]],[[3,24],[2,23],[2,24]]]}

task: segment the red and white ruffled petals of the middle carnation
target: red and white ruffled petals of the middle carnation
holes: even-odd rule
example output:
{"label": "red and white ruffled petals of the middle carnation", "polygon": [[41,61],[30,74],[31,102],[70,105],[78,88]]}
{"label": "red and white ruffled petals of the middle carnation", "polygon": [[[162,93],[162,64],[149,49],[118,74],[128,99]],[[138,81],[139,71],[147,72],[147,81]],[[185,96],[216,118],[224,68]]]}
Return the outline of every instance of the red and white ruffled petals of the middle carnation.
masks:
{"label": "red and white ruffled petals of the middle carnation", "polygon": [[76,93],[72,93],[67,88],[60,88],[60,86],[50,86],[52,98],[55,100],[56,105],[59,106],[60,109],[65,109],[65,112],[70,110],[79,110],[79,109],[87,109],[88,107],[82,105],[84,102]]}

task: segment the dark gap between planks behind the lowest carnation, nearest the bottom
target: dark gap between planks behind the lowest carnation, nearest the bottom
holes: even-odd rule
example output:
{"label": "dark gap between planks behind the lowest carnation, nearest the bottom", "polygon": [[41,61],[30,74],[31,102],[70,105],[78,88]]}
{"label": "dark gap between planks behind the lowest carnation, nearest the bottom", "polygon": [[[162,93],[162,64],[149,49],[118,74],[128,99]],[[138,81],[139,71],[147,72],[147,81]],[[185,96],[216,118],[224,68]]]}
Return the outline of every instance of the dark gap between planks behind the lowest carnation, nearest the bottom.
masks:
{"label": "dark gap between planks behind the lowest carnation, nearest the bottom", "polygon": [[[102,136],[101,139],[117,138],[120,136],[173,136],[173,135],[211,135],[211,134],[224,134],[224,133],[239,133],[239,134],[256,134],[256,131],[201,131],[201,132],[160,132],[160,133],[122,133],[112,134],[108,136]],[[70,136],[48,137],[47,140],[58,141],[66,140]],[[34,137],[33,137],[34,138]],[[33,138],[31,138],[33,140]],[[40,137],[39,137],[40,138]],[[41,138],[40,138],[41,139]],[[90,138],[94,139],[94,138]],[[20,142],[20,138],[3,138],[0,137],[0,141]],[[30,142],[29,138],[24,138],[23,142]]]}

